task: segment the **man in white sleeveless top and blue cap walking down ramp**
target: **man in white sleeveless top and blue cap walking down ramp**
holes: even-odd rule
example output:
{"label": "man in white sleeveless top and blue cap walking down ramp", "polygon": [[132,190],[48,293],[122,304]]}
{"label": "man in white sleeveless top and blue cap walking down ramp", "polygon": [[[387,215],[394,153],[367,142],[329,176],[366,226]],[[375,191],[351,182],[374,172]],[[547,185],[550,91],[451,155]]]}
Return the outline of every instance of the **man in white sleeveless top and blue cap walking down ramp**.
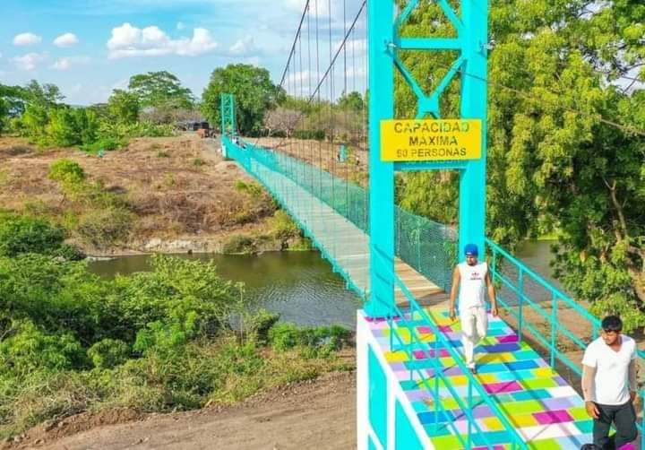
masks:
{"label": "man in white sleeveless top and blue cap walking down ramp", "polygon": [[475,244],[464,247],[466,261],[457,264],[452,273],[452,290],[449,314],[451,320],[456,318],[455,299],[459,292],[459,311],[461,322],[461,342],[464,348],[464,358],[470,371],[477,373],[475,366],[475,346],[477,342],[486,337],[488,329],[488,316],[486,314],[486,288],[488,299],[491,302],[491,312],[497,316],[497,300],[495,288],[488,273],[486,261],[479,263],[479,253]]}

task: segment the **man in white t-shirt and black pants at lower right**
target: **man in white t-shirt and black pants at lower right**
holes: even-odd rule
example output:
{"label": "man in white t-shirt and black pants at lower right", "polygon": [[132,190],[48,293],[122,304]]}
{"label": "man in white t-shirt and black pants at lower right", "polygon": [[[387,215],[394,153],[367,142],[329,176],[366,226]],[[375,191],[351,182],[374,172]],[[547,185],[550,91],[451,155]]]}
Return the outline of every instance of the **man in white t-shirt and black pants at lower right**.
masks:
{"label": "man in white t-shirt and black pants at lower right", "polygon": [[[636,342],[621,333],[618,316],[606,316],[600,337],[591,342],[582,359],[582,394],[594,420],[594,444],[614,450],[638,436],[636,412]],[[612,424],[615,434],[609,437]]]}

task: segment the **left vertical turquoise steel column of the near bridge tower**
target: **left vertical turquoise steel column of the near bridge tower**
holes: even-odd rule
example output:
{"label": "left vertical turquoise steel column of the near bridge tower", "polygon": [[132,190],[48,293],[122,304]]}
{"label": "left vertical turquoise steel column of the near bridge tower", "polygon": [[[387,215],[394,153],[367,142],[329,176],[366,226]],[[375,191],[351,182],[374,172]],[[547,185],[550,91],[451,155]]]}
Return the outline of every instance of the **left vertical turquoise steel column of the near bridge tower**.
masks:
{"label": "left vertical turquoise steel column of the near bridge tower", "polygon": [[[369,235],[368,316],[388,316],[394,307],[394,167],[381,160],[381,120],[394,115],[394,1],[367,3],[369,55]],[[384,270],[383,270],[384,269]]]}

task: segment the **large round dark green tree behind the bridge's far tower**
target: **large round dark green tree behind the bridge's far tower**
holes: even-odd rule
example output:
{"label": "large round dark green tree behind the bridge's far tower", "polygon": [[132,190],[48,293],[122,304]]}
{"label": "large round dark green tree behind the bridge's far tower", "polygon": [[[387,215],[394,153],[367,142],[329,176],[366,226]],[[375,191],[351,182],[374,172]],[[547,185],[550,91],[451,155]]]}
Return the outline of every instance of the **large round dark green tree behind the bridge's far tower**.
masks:
{"label": "large round dark green tree behind the bridge's far tower", "polygon": [[257,134],[262,130],[264,115],[275,108],[284,95],[271,82],[269,71],[254,65],[228,65],[211,74],[211,81],[202,94],[202,112],[214,125],[219,125],[219,95],[231,93],[236,98],[237,126],[241,134]]}

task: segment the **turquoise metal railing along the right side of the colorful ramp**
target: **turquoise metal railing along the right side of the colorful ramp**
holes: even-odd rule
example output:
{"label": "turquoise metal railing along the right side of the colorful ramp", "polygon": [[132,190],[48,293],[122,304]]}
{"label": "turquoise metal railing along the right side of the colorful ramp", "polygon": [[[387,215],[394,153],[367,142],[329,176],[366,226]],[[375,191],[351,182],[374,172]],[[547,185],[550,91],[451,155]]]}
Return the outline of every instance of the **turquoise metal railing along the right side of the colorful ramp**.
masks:
{"label": "turquoise metal railing along the right side of the colorful ramp", "polygon": [[[493,274],[493,280],[503,288],[501,292],[496,293],[497,301],[505,311],[515,318],[520,341],[525,330],[529,331],[533,339],[548,351],[551,368],[555,368],[556,361],[559,361],[575,372],[576,375],[582,376],[582,363],[572,361],[560,350],[563,342],[561,342],[559,336],[563,335],[578,350],[582,351],[587,349],[588,343],[583,341],[584,338],[576,335],[564,325],[560,307],[570,308],[574,313],[573,320],[577,323],[580,323],[580,321],[586,323],[588,326],[583,328],[590,330],[592,339],[598,338],[601,320],[492,240],[486,239],[486,245],[492,252],[491,273]],[[546,296],[543,296],[542,299],[536,299],[535,289],[533,289],[532,293],[529,292],[529,284],[538,287]],[[511,295],[503,293],[506,291],[510,292]],[[514,300],[512,296],[515,297]],[[541,303],[548,304],[549,309],[543,307]],[[544,322],[549,325],[546,336],[543,331],[538,330],[535,325],[526,320],[527,308],[545,319]],[[637,350],[637,359],[642,367],[645,362],[645,351]],[[645,390],[641,389],[639,394],[641,396],[642,414],[641,422],[637,426],[641,431],[641,448],[645,448]]]}

